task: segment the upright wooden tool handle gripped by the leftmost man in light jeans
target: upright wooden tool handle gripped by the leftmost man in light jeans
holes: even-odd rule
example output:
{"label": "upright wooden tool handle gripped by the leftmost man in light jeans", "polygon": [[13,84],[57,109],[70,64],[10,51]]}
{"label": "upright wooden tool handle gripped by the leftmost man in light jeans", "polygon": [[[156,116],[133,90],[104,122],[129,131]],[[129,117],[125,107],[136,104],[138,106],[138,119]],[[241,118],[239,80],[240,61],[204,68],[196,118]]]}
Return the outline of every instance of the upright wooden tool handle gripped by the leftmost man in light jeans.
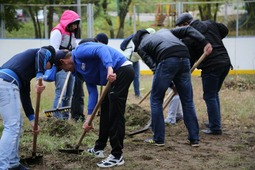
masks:
{"label": "upright wooden tool handle gripped by the leftmost man in light jeans", "polygon": [[[42,86],[42,78],[38,79],[38,85]],[[39,110],[40,110],[40,99],[41,93],[36,94],[36,105],[35,105],[35,122],[34,122],[34,131],[38,130],[38,120],[39,120]],[[32,156],[36,155],[36,143],[37,143],[37,134],[34,133],[33,136],[33,151]]]}

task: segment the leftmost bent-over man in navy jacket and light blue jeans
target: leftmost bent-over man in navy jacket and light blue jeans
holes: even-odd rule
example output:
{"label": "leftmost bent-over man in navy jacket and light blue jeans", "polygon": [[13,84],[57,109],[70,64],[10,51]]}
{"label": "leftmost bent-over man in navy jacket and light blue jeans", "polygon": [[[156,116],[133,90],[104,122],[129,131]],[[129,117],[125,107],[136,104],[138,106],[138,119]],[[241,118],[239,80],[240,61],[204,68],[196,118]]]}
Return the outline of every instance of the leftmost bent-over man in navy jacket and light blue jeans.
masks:
{"label": "leftmost bent-over man in navy jacket and light blue jeans", "polygon": [[[52,46],[28,49],[14,55],[0,67],[0,115],[4,129],[0,140],[0,169],[26,170],[19,162],[19,139],[22,132],[22,112],[24,112],[34,130],[34,109],[30,98],[30,82],[42,78],[46,69],[55,61],[55,49]],[[35,91],[42,93],[45,85],[35,85]]]}

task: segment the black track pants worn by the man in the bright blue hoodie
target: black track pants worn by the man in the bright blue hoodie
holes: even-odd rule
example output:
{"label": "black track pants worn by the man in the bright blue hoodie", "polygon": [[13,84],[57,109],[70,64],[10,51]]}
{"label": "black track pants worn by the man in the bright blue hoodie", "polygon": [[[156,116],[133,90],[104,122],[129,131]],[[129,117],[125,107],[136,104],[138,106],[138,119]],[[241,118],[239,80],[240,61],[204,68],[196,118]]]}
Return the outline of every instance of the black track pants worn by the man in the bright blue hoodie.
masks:
{"label": "black track pants worn by the man in the bright blue hoodie", "polygon": [[121,67],[116,74],[117,79],[112,83],[101,105],[99,138],[96,141],[95,150],[103,150],[109,138],[111,154],[119,158],[122,155],[125,137],[124,113],[128,89],[135,74],[132,65]]}

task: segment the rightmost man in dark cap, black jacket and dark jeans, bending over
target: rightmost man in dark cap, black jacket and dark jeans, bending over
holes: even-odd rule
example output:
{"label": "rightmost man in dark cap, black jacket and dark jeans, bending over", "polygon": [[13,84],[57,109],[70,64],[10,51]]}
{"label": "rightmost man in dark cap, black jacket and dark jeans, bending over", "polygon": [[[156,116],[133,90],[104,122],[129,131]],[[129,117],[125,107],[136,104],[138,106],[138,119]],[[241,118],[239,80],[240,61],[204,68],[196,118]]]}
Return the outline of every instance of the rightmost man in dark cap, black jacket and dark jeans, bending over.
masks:
{"label": "rightmost man in dark cap, black jacket and dark jeans, bending over", "polygon": [[[198,69],[202,70],[203,98],[207,106],[209,119],[208,129],[204,129],[202,132],[205,134],[221,135],[219,91],[232,67],[228,52],[222,42],[222,39],[228,35],[228,28],[222,23],[211,20],[193,20],[192,15],[189,13],[181,14],[176,21],[176,25],[190,25],[202,33],[212,44],[212,53],[198,66]],[[189,46],[192,61],[198,60],[203,53],[201,45],[192,43],[190,40],[186,41],[185,44]]]}

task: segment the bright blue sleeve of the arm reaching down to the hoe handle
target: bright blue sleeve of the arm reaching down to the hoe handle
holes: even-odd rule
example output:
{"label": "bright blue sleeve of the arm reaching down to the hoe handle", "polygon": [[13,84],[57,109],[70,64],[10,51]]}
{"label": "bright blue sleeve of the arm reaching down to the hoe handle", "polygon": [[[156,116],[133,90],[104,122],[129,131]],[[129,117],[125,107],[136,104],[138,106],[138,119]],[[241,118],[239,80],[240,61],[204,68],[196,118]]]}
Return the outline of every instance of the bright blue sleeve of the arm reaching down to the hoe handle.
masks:
{"label": "bright blue sleeve of the arm reaching down to the hoe handle", "polygon": [[97,85],[86,83],[88,90],[88,115],[91,115],[98,100]]}

